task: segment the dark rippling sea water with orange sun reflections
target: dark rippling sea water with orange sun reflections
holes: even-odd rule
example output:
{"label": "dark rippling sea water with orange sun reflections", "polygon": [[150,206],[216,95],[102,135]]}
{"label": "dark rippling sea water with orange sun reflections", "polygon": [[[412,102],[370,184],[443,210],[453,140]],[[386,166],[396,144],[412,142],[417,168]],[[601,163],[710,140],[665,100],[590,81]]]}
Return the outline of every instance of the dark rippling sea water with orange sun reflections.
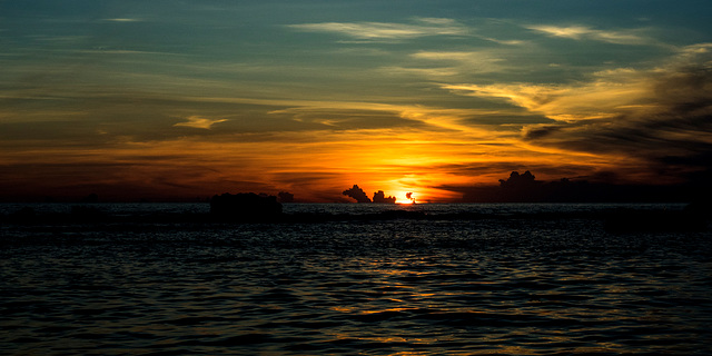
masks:
{"label": "dark rippling sea water with orange sun reflections", "polygon": [[0,354],[712,353],[709,230],[511,215],[600,206],[418,208],[491,215],[6,224]]}

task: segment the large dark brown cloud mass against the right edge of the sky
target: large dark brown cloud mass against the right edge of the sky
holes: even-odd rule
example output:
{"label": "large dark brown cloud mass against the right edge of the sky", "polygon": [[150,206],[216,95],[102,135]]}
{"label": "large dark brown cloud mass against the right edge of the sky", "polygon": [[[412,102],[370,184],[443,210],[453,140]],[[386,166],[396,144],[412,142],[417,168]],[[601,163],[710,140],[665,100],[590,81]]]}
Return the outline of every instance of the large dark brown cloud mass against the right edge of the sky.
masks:
{"label": "large dark brown cloud mass against the right edge of the sky", "polygon": [[696,65],[653,73],[651,97],[637,111],[623,108],[611,118],[533,127],[524,138],[541,146],[637,158],[646,165],[641,169],[666,178],[712,171],[711,60],[706,53]]}

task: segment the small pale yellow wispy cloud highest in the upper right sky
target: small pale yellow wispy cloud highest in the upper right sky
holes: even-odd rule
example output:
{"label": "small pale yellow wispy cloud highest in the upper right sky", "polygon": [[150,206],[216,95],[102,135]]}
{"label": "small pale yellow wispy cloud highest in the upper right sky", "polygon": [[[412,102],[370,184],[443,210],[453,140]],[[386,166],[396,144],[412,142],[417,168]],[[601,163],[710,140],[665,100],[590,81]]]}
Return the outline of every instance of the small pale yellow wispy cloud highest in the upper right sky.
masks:
{"label": "small pale yellow wispy cloud highest in the upper right sky", "polygon": [[553,26],[535,24],[525,28],[551,37],[561,37],[572,40],[594,40],[615,44],[650,44],[651,39],[639,34],[641,30],[613,31],[597,30],[586,26]]}

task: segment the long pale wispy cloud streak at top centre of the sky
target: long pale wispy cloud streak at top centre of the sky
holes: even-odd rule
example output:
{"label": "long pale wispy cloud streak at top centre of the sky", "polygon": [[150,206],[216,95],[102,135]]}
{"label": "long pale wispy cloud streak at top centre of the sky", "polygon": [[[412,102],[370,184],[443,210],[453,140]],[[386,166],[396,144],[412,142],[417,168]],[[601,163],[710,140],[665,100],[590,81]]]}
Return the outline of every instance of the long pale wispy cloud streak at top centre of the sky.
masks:
{"label": "long pale wispy cloud streak at top centre of the sky", "polygon": [[413,23],[319,22],[289,24],[308,32],[339,33],[359,40],[404,40],[427,36],[467,36],[469,29],[452,19],[417,18]]}

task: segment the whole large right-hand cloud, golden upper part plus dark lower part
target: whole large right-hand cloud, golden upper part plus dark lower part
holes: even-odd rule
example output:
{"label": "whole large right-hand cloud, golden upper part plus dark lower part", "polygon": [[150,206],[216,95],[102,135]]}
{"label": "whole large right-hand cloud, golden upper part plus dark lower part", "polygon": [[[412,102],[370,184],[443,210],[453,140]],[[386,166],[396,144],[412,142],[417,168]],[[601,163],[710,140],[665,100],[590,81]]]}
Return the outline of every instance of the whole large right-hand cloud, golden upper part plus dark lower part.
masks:
{"label": "whole large right-hand cloud, golden upper part plus dark lower part", "polygon": [[711,62],[712,44],[702,43],[657,67],[599,71],[587,82],[443,88],[506,100],[557,121],[525,127],[524,145],[607,155],[650,175],[712,174]]}

